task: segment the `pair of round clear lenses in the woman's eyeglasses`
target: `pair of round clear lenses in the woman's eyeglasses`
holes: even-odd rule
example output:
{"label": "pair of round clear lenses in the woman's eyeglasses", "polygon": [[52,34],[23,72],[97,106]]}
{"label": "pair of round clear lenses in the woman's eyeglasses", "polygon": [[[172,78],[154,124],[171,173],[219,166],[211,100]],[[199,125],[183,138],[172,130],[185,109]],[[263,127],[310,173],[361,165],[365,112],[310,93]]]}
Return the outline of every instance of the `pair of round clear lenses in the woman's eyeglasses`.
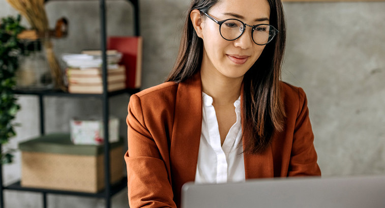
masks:
{"label": "pair of round clear lenses in the woman's eyeglasses", "polygon": [[[244,24],[241,21],[229,19],[222,23],[220,32],[224,39],[235,40],[242,35],[244,29]],[[275,31],[269,24],[261,24],[254,27],[252,34],[256,44],[264,45],[274,38]]]}

